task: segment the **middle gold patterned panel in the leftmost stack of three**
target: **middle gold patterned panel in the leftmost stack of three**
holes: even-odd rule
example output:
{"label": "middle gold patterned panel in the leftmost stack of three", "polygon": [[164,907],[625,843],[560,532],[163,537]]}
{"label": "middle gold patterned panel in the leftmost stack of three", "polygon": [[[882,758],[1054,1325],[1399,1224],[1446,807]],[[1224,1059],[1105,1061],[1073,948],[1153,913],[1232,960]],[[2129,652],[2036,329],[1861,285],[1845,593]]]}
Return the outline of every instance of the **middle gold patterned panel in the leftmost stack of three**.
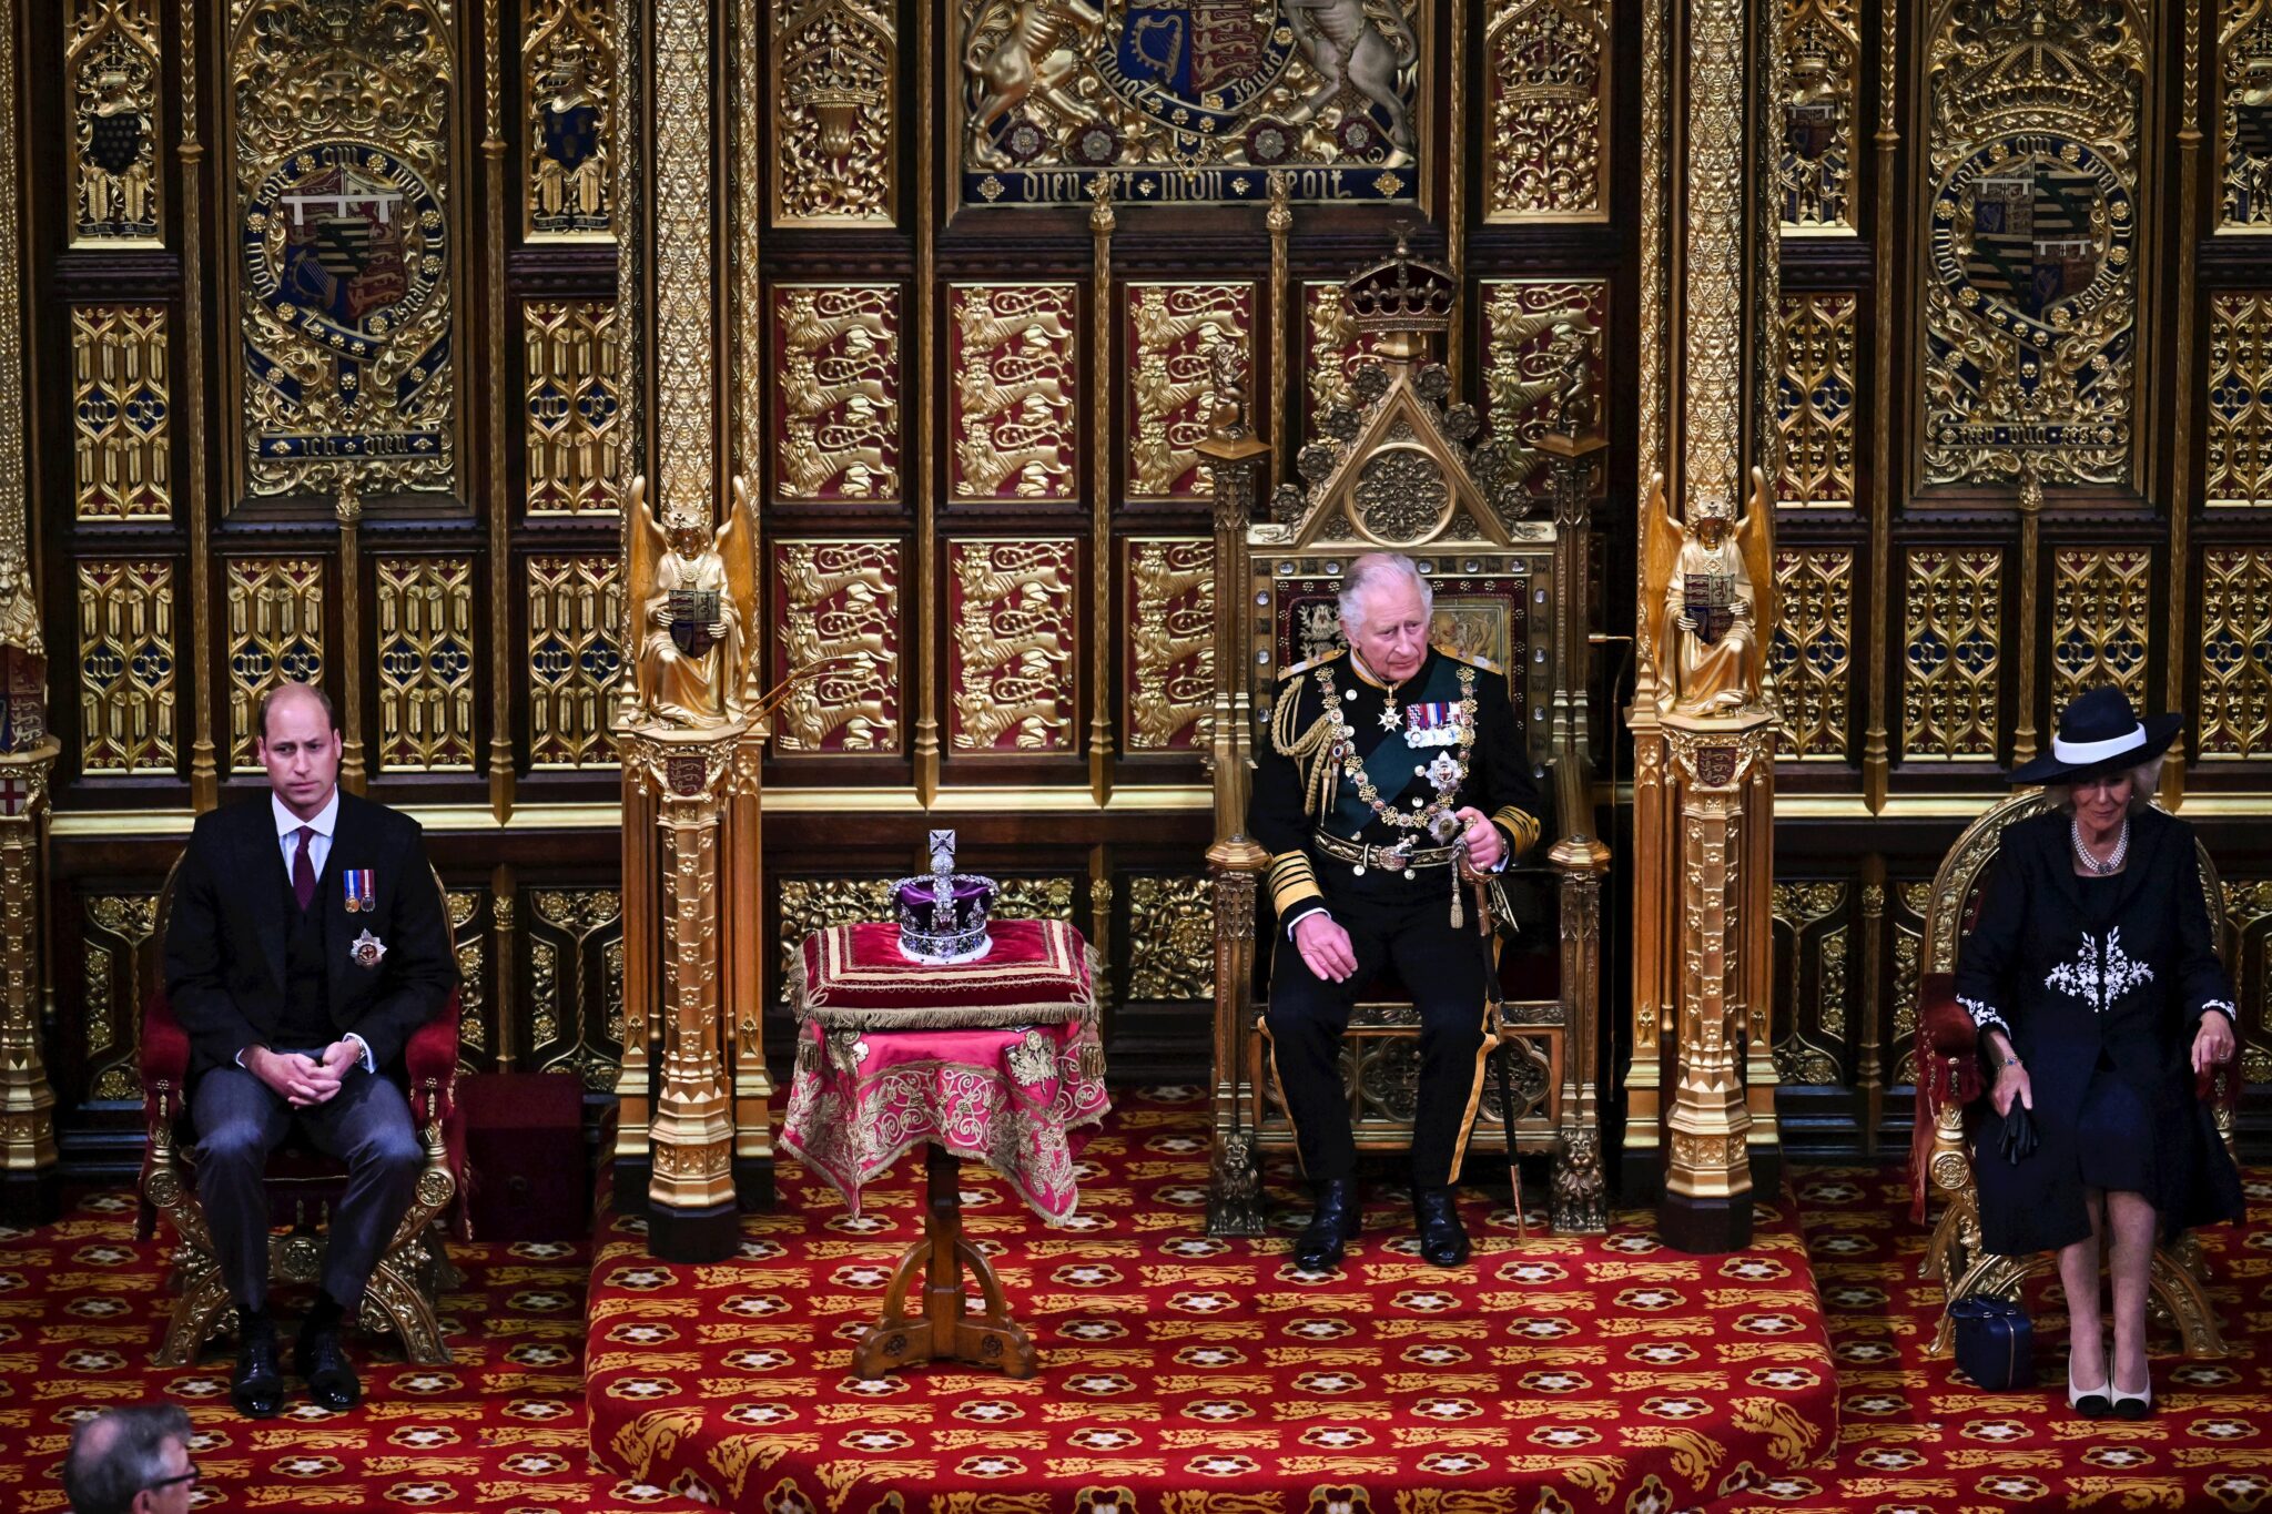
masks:
{"label": "middle gold patterned panel in the leftmost stack of three", "polygon": [[164,304],[70,306],[70,452],[80,520],[173,520]]}

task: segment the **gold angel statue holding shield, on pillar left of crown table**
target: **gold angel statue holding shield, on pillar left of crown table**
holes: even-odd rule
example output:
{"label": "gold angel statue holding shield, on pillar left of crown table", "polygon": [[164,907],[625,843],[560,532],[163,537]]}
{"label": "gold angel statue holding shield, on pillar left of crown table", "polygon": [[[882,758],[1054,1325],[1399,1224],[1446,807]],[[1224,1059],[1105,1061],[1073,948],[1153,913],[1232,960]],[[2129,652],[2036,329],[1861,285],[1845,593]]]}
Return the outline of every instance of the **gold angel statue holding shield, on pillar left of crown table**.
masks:
{"label": "gold angel statue holding shield, on pillar left of crown table", "polygon": [[632,604],[638,611],[638,720],[707,729],[741,720],[750,701],[750,613],[757,604],[757,511],[734,479],[716,531],[657,520],[648,479],[632,479]]}

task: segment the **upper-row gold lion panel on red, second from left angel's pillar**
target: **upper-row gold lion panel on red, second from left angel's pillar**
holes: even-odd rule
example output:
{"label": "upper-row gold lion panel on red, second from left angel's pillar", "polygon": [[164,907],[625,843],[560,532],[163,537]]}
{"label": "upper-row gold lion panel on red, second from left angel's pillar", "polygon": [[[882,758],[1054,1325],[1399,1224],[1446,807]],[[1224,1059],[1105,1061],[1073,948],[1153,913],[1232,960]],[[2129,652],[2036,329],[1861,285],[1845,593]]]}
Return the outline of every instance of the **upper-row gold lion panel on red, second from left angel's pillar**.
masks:
{"label": "upper-row gold lion panel on red, second from left angel's pillar", "polygon": [[947,309],[954,497],[1079,499],[1075,286],[957,284]]}

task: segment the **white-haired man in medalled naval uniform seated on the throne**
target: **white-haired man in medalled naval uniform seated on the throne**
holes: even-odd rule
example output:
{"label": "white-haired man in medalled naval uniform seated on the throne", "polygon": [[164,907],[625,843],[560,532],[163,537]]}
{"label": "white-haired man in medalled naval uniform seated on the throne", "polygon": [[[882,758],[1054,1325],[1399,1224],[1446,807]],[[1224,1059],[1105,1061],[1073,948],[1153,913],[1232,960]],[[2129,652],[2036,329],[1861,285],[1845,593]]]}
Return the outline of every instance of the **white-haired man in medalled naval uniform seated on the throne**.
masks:
{"label": "white-haired man in medalled naval uniform seated on the throne", "polygon": [[1359,1233],[1356,1142],[1340,1085],[1350,1008],[1395,967],[1420,1010],[1411,1192],[1420,1255],[1468,1260],[1452,1201],[1484,1090],[1484,958],[1452,924],[1461,860],[1493,874],[1538,840],[1506,679],[1429,647],[1436,595],[1375,552],[1340,590],[1347,651],[1288,667],[1254,772],[1247,829],[1270,849],[1279,942],[1270,1055],[1318,1205],[1295,1264],[1327,1271]]}

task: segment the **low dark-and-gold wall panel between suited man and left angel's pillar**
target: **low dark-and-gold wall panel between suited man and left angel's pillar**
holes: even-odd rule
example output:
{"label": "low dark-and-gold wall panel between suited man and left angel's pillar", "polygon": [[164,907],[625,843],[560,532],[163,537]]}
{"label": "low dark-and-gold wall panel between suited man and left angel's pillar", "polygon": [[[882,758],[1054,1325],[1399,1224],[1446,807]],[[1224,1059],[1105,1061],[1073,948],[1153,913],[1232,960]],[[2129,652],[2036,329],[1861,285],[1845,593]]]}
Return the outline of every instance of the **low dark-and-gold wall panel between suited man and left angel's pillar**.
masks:
{"label": "low dark-and-gold wall panel between suited man and left angel's pillar", "polygon": [[611,1092],[623,1062],[623,894],[523,890],[529,912],[529,1060]]}

